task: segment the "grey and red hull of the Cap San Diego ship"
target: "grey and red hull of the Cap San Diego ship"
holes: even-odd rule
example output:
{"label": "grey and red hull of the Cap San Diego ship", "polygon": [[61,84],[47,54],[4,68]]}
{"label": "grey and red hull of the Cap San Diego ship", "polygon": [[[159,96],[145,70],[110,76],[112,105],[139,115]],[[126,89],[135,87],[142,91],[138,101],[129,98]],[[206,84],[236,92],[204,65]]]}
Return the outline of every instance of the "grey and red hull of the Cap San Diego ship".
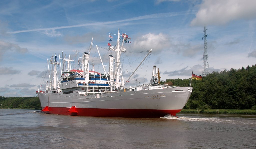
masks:
{"label": "grey and red hull of the Cap San Diego ship", "polygon": [[[186,105],[192,89],[180,87],[142,90],[120,93],[80,96],[79,93],[37,93],[43,111],[48,114],[120,117],[120,118],[160,118],[176,116]],[[75,111],[70,111],[75,107]]]}

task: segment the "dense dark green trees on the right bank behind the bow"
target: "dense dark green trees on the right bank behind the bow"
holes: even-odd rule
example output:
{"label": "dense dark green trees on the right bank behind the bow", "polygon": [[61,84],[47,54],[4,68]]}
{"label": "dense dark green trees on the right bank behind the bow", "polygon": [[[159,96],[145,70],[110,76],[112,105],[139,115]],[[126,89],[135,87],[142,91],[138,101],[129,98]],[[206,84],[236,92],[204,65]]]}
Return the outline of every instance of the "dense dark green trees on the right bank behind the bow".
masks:
{"label": "dense dark green trees on the right bank behind the bow", "polygon": [[[188,86],[189,79],[167,79],[173,86]],[[256,66],[213,72],[192,80],[193,92],[184,109],[256,110]]]}

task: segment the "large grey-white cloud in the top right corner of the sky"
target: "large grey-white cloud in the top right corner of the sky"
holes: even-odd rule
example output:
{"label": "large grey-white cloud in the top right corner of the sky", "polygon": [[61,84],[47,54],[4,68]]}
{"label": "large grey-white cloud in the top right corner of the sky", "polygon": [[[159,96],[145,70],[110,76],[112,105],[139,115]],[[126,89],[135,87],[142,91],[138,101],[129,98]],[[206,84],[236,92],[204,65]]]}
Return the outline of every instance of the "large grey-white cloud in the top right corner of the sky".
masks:
{"label": "large grey-white cloud in the top right corner of the sky", "polygon": [[225,25],[232,20],[253,19],[255,7],[255,0],[205,0],[190,25]]}

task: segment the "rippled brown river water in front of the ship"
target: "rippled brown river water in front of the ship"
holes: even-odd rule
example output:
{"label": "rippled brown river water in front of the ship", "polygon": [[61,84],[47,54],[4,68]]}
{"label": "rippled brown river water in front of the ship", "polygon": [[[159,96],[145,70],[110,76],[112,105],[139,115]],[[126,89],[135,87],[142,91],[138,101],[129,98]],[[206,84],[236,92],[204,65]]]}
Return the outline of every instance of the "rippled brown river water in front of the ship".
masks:
{"label": "rippled brown river water in front of the ship", "polygon": [[99,118],[0,110],[0,148],[256,148],[256,115]]}

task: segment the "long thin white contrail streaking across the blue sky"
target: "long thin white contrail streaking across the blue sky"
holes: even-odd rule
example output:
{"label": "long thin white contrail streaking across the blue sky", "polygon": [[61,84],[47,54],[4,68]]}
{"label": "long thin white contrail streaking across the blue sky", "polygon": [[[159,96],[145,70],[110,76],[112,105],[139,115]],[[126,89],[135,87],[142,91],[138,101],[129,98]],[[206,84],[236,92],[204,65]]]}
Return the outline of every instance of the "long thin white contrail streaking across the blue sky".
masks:
{"label": "long thin white contrail streaking across the blue sky", "polygon": [[42,30],[57,30],[57,29],[64,29],[64,28],[95,26],[95,25],[99,26],[99,25],[108,25],[108,24],[122,23],[122,22],[128,22],[128,21],[135,21],[135,20],[152,19],[152,18],[165,18],[165,17],[174,17],[174,16],[191,15],[191,14],[192,13],[188,13],[188,12],[160,13],[160,14],[152,14],[152,15],[139,16],[139,17],[134,17],[134,18],[125,19],[125,20],[118,20],[118,21],[96,22],[96,23],[87,23],[87,24],[71,25],[71,26],[61,26],[61,27],[52,27],[52,28],[39,28],[39,29],[19,30],[19,31],[8,32],[8,34],[18,34],[18,33],[25,33],[25,32],[31,32],[31,31],[42,31]]}

